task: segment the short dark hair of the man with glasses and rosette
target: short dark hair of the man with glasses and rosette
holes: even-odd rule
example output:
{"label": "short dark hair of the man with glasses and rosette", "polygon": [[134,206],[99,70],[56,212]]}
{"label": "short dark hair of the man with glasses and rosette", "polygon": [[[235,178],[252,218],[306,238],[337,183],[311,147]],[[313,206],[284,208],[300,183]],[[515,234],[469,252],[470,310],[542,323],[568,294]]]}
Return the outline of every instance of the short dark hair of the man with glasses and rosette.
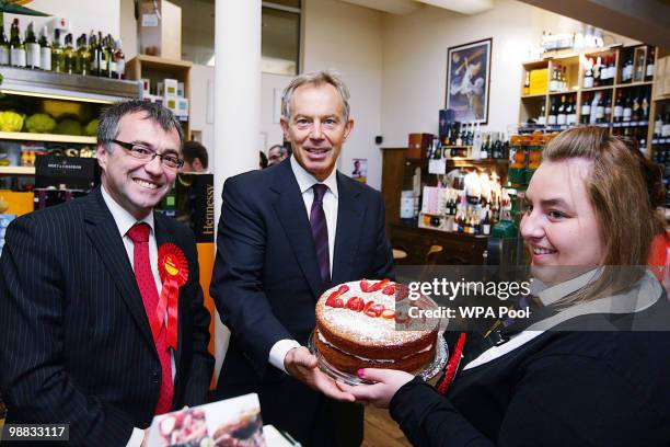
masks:
{"label": "short dark hair of the man with glasses and rosette", "polygon": [[112,141],[118,136],[118,123],[125,115],[138,112],[145,112],[143,119],[151,119],[165,131],[175,129],[180,136],[180,146],[182,146],[184,130],[176,116],[162,105],[141,100],[115,103],[103,110],[97,126],[97,144],[112,152]]}

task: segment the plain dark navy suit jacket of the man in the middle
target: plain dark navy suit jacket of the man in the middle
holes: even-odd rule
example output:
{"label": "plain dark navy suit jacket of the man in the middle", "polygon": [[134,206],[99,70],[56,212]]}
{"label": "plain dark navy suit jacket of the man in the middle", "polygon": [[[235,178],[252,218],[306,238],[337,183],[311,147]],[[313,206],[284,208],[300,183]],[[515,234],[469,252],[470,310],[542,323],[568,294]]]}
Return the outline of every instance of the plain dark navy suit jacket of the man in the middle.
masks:
{"label": "plain dark navy suit jacket of the man in the middle", "polygon": [[[392,276],[381,194],[339,172],[337,188],[332,284]],[[268,356],[282,339],[307,345],[315,302],[327,287],[290,159],[228,179],[211,284],[232,333],[219,397],[258,392],[264,421],[298,438],[299,431],[312,428],[311,417],[324,399],[269,365]]]}

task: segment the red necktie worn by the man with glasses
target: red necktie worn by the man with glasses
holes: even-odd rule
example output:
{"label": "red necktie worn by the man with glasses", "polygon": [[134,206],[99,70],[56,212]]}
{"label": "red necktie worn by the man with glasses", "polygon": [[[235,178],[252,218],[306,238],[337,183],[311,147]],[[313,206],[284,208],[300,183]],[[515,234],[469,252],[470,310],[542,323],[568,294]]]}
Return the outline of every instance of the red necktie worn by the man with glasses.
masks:
{"label": "red necktie worn by the man with glasses", "polygon": [[[155,308],[159,301],[158,289],[155,288],[155,279],[151,273],[151,264],[149,263],[149,231],[151,228],[148,224],[136,224],[128,230],[128,237],[135,245],[132,265],[135,267],[135,280],[139,287],[145,311],[149,320],[155,319]],[[168,413],[172,408],[172,397],[174,388],[172,383],[172,365],[170,362],[170,349],[165,343],[165,326],[161,328],[158,335],[155,349],[161,360],[161,392],[159,396],[158,405],[155,405],[155,414]]]}

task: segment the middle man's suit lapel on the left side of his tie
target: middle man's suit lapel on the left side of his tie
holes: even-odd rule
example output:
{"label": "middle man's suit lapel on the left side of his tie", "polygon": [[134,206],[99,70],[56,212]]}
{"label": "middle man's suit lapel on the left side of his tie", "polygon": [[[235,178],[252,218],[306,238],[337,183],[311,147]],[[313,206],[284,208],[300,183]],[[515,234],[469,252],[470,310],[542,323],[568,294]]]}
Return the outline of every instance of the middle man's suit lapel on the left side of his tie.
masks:
{"label": "middle man's suit lapel on the left side of his tie", "polygon": [[298,181],[296,181],[291,170],[291,163],[288,161],[279,164],[276,171],[275,183],[270,186],[276,194],[273,202],[275,213],[277,213],[279,222],[286,232],[300,270],[312,289],[312,294],[314,297],[319,297],[323,290],[323,285],[321,284],[316,250],[310,230],[310,220],[304,210],[304,200],[300,193],[300,186],[298,186]]}

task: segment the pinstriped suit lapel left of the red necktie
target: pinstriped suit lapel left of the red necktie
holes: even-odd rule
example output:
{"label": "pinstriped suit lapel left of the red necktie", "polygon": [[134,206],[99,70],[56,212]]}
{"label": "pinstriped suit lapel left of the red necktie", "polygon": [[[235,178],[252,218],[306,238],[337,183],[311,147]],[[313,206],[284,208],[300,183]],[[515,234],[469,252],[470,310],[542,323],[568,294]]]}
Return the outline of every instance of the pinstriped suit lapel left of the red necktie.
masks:
{"label": "pinstriped suit lapel left of the red necktie", "polygon": [[118,227],[116,227],[116,222],[103,200],[100,188],[93,191],[86,198],[85,221],[89,239],[97,250],[100,259],[114,279],[119,295],[128,306],[130,314],[140,328],[143,337],[153,346],[153,337],[145,312],[142,297],[135,280],[128,252],[126,252],[118,233]]}

